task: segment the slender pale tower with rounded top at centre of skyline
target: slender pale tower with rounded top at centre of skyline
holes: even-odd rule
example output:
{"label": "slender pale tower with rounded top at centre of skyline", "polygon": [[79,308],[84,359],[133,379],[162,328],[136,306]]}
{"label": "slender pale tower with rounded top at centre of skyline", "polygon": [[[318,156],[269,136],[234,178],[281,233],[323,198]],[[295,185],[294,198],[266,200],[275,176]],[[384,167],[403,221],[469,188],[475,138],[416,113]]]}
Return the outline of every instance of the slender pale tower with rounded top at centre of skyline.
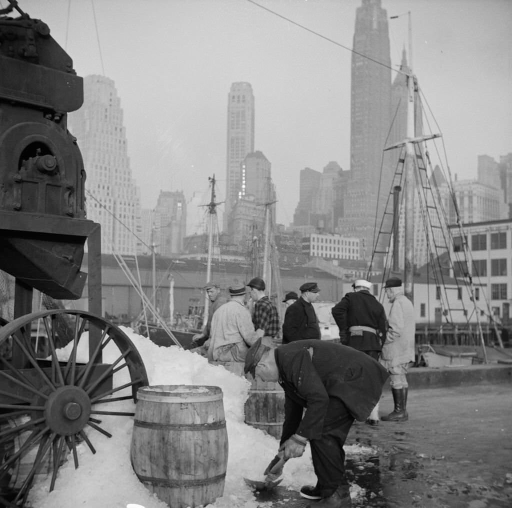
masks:
{"label": "slender pale tower with rounded top at centre of skyline", "polygon": [[254,152],[254,95],[250,83],[233,83],[227,104],[226,204],[224,230],[242,193],[242,162]]}

